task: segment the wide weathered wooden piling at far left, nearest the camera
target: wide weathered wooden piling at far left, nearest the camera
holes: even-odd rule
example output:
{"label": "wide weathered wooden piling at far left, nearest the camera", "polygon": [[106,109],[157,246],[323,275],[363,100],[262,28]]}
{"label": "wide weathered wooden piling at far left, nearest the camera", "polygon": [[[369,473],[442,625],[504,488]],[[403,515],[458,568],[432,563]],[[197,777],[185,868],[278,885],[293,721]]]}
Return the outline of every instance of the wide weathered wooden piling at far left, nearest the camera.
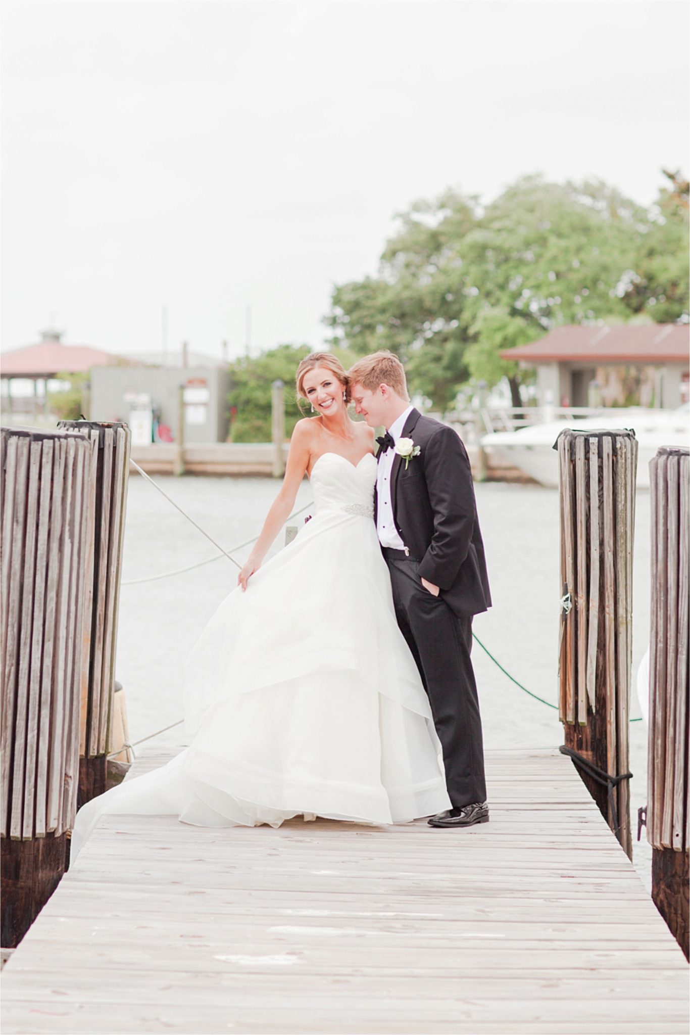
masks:
{"label": "wide weathered wooden piling at far left, nearest the camera", "polygon": [[55,890],[77,810],[90,454],[80,435],[0,430],[3,946]]}

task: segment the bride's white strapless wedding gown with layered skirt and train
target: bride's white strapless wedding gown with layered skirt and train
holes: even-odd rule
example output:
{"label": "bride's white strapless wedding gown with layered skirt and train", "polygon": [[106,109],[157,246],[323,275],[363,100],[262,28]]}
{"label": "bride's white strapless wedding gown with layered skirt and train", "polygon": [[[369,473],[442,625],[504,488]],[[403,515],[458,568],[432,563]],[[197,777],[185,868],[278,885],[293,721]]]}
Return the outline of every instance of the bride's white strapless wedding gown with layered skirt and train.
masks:
{"label": "bride's white strapless wedding gown with layered skirt and train", "polygon": [[185,666],[190,744],[80,809],[278,826],[314,815],[404,823],[449,808],[428,698],[395,621],[372,520],[377,463],[311,473],[316,511],[220,604]]}

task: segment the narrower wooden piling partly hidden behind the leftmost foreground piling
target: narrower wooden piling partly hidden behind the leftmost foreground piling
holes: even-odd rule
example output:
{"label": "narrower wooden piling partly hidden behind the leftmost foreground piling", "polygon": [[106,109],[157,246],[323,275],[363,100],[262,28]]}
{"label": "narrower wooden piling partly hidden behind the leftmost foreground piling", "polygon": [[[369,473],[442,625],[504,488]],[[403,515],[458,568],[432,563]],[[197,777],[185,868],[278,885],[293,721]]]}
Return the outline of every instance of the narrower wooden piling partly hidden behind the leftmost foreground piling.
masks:
{"label": "narrower wooden piling partly hidden behind the leftmost foreground piling", "polygon": [[59,426],[79,432],[93,450],[92,533],[81,649],[79,804],[83,805],[108,786],[130,434],[124,423],[64,420]]}

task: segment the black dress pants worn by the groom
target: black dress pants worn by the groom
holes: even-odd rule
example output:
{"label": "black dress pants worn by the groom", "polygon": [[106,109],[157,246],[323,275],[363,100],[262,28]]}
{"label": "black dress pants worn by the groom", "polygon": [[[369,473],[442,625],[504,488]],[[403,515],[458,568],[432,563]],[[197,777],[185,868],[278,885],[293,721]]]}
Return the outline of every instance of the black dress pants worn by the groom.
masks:
{"label": "black dress pants worn by the groom", "polygon": [[486,800],[477,683],[472,668],[472,618],[458,618],[441,594],[422,586],[413,560],[386,558],[395,616],[431,705],[454,808]]}

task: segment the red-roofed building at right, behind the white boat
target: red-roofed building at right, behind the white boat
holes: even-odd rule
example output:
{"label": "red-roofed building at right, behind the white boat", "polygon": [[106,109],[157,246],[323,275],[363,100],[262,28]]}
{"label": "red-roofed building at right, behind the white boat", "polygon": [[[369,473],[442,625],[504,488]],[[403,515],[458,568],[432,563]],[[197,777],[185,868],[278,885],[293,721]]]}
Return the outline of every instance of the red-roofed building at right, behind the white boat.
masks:
{"label": "red-roofed building at right, behind the white boat", "polygon": [[557,327],[501,356],[537,368],[542,404],[673,409],[688,402],[687,324]]}

